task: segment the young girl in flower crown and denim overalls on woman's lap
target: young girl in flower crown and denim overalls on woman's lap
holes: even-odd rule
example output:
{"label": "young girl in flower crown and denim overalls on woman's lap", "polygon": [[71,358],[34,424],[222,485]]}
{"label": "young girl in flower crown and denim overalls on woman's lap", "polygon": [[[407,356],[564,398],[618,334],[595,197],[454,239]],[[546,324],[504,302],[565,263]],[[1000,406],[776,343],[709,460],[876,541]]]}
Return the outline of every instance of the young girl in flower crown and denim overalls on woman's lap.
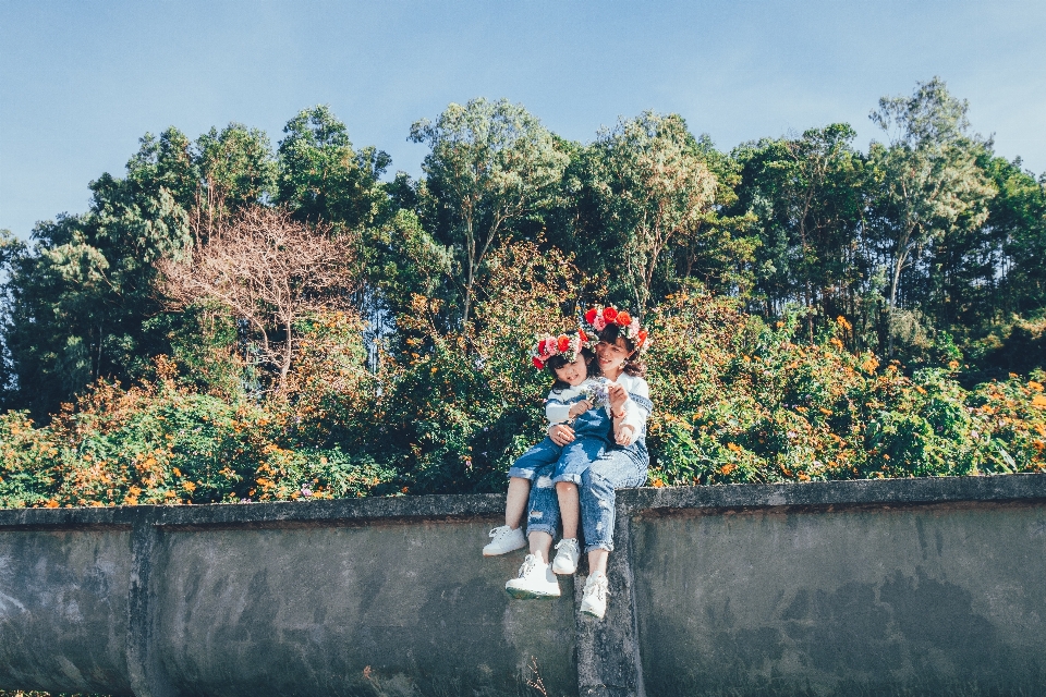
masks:
{"label": "young girl in flower crown and denim overalls on woman's lap", "polygon": [[[552,574],[572,574],[577,568],[581,555],[577,484],[588,463],[610,443],[609,412],[595,408],[606,406],[608,401],[600,379],[594,377],[597,370],[591,343],[594,342],[579,331],[572,337],[542,339],[531,352],[534,366],[547,369],[556,380],[545,406],[549,424],[570,423],[577,438],[565,447],[546,438],[527,450],[509,470],[506,524],[490,530],[494,540],[484,548],[484,555],[504,554],[526,545],[521,523],[532,481],[544,488],[555,486],[563,525],[563,539],[557,546],[558,553],[551,567],[545,559],[538,564],[537,560],[527,558],[524,567],[530,564],[533,573],[525,575],[526,580],[522,584],[513,582],[523,579],[524,574],[506,586],[506,590],[515,597],[558,596],[559,583]],[[531,521],[527,527],[531,533],[556,533],[555,528],[546,530],[548,526],[543,526],[540,519]]]}

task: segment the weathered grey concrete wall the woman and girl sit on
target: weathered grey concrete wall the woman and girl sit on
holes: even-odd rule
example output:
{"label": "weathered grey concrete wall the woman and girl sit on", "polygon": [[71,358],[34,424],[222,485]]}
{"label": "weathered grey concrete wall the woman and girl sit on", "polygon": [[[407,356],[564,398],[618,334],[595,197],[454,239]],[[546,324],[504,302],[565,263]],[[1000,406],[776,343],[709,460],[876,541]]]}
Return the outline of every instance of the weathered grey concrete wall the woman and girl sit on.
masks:
{"label": "weathered grey concrete wall the woman and girl sit on", "polygon": [[504,595],[502,501],[0,511],[0,688],[1046,689],[1046,475],[625,491],[604,622]]}

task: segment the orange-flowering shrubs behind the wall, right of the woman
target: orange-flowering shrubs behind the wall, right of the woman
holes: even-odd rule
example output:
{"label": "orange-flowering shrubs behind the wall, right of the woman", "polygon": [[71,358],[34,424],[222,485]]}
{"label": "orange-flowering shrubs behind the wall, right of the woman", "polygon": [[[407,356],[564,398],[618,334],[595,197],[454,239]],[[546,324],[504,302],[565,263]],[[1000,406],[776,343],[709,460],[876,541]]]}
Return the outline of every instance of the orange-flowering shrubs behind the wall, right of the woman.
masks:
{"label": "orange-flowering shrubs behind the wall, right of the woman", "polygon": [[701,294],[670,297],[650,326],[681,339],[650,350],[655,482],[1046,470],[1041,374],[968,391],[948,370],[880,369],[832,332],[798,343],[794,325]]}

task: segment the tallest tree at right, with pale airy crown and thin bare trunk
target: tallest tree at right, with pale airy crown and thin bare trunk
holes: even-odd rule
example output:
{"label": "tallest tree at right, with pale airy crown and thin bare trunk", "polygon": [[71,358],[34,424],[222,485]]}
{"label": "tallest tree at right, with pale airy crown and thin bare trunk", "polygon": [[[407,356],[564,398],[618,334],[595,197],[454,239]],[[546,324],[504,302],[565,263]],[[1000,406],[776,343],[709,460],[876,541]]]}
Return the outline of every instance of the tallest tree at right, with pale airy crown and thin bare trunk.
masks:
{"label": "tallest tree at right, with pale airy crown and thin bare trunk", "polygon": [[[889,259],[889,319],[905,268],[963,216],[982,224],[995,188],[977,167],[978,138],[969,135],[968,103],[948,94],[935,77],[911,97],[884,97],[871,119],[888,136],[873,143],[869,158],[879,171],[880,242]],[[890,331],[888,354],[893,352]]]}

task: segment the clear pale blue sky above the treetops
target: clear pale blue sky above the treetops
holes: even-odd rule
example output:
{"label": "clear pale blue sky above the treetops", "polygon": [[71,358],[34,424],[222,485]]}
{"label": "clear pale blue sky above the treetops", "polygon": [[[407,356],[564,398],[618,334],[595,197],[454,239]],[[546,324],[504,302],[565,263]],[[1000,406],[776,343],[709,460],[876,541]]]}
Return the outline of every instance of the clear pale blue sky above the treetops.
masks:
{"label": "clear pale blue sky above the treetops", "polygon": [[230,122],[273,147],[327,103],[421,172],[411,124],[507,97],[591,140],[646,109],[720,149],[848,122],[940,76],[996,152],[1046,172],[1042,0],[0,0],[0,228],[87,209],[146,132]]}

